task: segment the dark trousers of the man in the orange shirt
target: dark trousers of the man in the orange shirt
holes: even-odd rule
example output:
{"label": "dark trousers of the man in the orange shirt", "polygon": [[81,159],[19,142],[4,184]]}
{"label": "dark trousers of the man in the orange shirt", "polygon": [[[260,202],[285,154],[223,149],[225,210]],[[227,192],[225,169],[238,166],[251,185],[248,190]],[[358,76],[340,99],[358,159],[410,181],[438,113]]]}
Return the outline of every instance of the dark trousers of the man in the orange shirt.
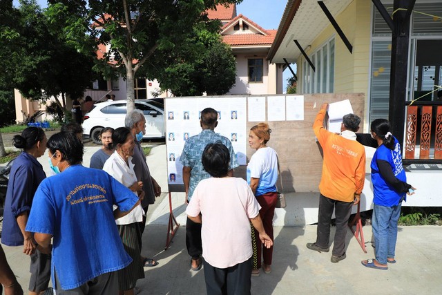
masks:
{"label": "dark trousers of the man in the orange shirt", "polygon": [[316,246],[329,247],[330,225],[333,209],[336,216],[336,233],[334,234],[333,256],[343,256],[345,253],[345,236],[347,224],[352,213],[353,202],[341,202],[319,195],[318,229],[316,231]]}

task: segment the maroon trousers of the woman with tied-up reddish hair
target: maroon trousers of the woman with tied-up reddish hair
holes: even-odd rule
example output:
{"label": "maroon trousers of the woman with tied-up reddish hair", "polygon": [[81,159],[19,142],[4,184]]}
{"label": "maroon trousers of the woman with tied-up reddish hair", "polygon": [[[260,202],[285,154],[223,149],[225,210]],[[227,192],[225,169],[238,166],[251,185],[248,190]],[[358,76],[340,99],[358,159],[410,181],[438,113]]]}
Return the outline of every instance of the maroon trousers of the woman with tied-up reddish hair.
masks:
{"label": "maroon trousers of the woman with tied-up reddish hair", "polygon": [[[278,196],[276,193],[265,193],[264,195],[256,197],[258,203],[261,206],[260,218],[262,220],[262,225],[264,226],[266,234],[273,240],[273,216],[275,215],[275,206],[278,201]],[[262,247],[262,242],[258,231],[251,226],[251,236],[252,236],[252,249],[253,249],[253,269],[261,268],[261,254],[266,265],[271,265],[271,259],[273,257],[273,246],[270,248]]]}

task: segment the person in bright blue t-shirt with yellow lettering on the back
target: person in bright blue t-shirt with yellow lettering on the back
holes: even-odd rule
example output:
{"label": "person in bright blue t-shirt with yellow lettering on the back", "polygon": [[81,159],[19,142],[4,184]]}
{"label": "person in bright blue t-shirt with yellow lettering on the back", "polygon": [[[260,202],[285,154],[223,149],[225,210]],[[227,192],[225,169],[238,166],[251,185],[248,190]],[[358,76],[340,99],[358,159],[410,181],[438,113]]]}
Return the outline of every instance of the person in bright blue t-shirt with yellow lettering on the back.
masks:
{"label": "person in bright blue t-shirt with yellow lettering on the back", "polygon": [[132,260],[124,251],[115,218],[126,215],[140,200],[108,173],[81,166],[83,144],[75,135],[57,133],[47,146],[56,175],[37,189],[26,231],[34,232],[47,251],[53,238],[51,273],[57,295],[116,295],[115,271]]}

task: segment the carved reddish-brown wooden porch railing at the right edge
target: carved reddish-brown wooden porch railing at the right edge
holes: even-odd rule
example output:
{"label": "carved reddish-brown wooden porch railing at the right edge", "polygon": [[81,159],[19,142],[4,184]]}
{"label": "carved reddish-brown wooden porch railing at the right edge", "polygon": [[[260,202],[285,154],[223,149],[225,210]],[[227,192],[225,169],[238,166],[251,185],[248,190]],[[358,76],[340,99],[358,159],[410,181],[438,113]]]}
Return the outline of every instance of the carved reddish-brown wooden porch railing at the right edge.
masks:
{"label": "carved reddish-brown wooden porch railing at the right edge", "polygon": [[442,163],[442,102],[407,102],[403,162]]}

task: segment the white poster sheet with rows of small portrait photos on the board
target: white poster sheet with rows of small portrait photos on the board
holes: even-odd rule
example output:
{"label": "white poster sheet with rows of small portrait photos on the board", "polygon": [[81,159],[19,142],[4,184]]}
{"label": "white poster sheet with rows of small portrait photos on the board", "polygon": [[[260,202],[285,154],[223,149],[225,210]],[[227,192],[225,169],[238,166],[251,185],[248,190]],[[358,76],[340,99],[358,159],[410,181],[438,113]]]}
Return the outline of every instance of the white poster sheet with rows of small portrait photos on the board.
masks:
{"label": "white poster sheet with rows of small portrait photos on the board", "polygon": [[246,97],[166,98],[164,111],[167,114],[166,158],[169,184],[183,184],[180,161],[182,149],[188,138],[202,131],[200,118],[204,108],[214,108],[218,112],[215,133],[230,140],[240,165],[247,164]]}

